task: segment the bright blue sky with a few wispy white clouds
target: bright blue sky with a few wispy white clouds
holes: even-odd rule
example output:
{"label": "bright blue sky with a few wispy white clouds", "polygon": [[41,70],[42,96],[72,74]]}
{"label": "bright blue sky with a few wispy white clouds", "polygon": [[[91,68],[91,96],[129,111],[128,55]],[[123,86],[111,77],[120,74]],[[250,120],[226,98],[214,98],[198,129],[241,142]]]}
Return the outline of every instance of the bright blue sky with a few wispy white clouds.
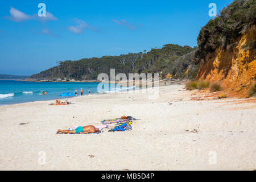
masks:
{"label": "bright blue sky with a few wispy white clouds", "polygon": [[[46,4],[46,18],[38,4]],[[197,46],[210,17],[232,0],[0,1],[0,74],[32,75],[57,61]]]}

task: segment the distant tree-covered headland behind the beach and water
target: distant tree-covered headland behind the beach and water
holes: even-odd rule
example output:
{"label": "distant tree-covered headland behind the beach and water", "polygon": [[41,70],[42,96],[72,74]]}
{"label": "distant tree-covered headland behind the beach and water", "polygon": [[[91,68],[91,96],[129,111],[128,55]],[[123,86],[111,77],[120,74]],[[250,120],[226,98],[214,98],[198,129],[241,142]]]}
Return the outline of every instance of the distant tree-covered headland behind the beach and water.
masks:
{"label": "distant tree-covered headland behind the beach and water", "polygon": [[[161,49],[151,49],[139,53],[129,53],[120,56],[92,57],[78,61],[59,61],[59,65],[39,74],[32,75],[32,79],[61,79],[61,80],[97,80],[100,73],[110,74],[110,68],[115,73],[170,73],[176,77],[184,76],[192,62],[191,52],[195,48],[166,44]],[[179,59],[179,64],[175,60]],[[190,74],[190,73],[189,73]],[[190,74],[191,75],[191,74]]]}

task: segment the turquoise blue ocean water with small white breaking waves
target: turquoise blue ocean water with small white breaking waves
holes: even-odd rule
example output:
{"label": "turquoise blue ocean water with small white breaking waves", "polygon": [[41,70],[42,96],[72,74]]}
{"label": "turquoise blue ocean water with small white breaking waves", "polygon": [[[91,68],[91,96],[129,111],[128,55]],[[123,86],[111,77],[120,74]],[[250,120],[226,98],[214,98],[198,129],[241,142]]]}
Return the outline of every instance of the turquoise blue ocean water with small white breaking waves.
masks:
{"label": "turquoise blue ocean water with small white breaking waves", "polygon": [[[84,96],[88,94],[88,88],[91,94],[104,94],[113,92],[122,92],[124,90],[134,89],[134,86],[123,87],[118,84],[102,84],[99,82],[28,82],[16,80],[0,80],[0,105],[18,104],[33,101],[47,101],[60,98],[61,101],[66,98],[59,97],[61,93],[71,92],[75,94],[75,89],[80,96],[80,89],[84,90]],[[43,96],[43,91],[47,92]]]}

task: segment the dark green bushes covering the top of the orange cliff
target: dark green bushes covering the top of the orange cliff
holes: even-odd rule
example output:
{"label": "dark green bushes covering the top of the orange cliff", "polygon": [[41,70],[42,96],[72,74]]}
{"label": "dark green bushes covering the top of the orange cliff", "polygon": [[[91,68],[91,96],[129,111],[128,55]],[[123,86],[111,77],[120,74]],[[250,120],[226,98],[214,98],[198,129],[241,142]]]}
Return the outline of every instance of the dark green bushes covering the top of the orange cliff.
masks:
{"label": "dark green bushes covering the top of the orange cliff", "polygon": [[[200,60],[204,63],[205,56],[218,47],[232,49],[236,39],[255,22],[255,0],[233,1],[220,12],[220,15],[201,28],[197,38],[199,50],[196,52],[195,63],[199,63]],[[255,48],[255,40],[251,40],[248,47]]]}

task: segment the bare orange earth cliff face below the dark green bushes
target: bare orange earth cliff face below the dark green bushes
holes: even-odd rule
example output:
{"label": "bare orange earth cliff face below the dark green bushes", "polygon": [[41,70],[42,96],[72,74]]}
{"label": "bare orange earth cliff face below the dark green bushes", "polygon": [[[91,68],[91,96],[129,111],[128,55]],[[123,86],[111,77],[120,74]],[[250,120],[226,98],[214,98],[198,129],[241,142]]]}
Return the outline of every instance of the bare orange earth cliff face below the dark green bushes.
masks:
{"label": "bare orange earth cliff face below the dark green bushes", "polygon": [[246,90],[256,79],[256,48],[249,48],[255,40],[256,27],[252,26],[225,50],[217,48],[214,53],[209,53],[205,57],[206,63],[200,63],[197,78],[221,81],[226,90],[246,97]]}

